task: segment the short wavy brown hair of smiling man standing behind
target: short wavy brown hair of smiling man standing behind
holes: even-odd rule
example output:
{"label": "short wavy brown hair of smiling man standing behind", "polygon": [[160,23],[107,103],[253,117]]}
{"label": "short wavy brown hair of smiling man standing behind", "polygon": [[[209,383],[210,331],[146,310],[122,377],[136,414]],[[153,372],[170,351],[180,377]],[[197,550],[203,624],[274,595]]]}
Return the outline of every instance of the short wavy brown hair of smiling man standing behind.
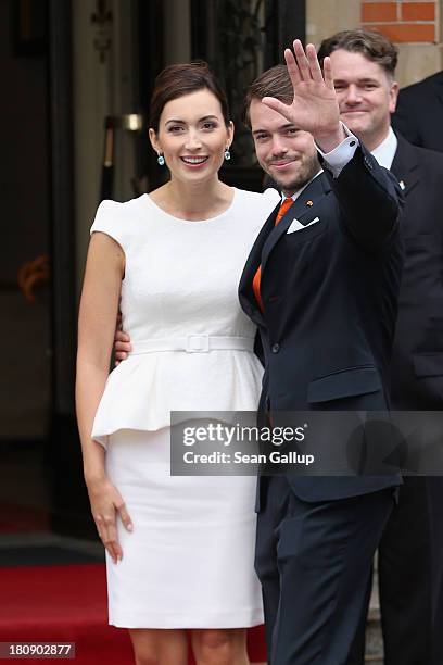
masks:
{"label": "short wavy brown hair of smiling man standing behind", "polygon": [[390,78],[394,77],[398,50],[381,33],[358,28],[341,30],[332,37],[324,39],[317,54],[321,67],[326,55],[330,55],[337,49],[343,49],[351,53],[362,53],[371,62],[380,65]]}

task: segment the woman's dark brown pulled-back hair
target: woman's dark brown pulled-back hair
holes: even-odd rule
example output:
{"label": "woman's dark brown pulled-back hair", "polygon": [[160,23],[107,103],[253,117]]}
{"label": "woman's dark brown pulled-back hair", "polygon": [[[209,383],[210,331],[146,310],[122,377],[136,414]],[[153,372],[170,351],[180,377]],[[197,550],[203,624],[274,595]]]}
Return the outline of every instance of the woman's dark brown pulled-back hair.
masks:
{"label": "woman's dark brown pulled-back hair", "polygon": [[230,122],[228,100],[210,65],[203,60],[168,65],[159,74],[151,98],[149,126],[157,134],[160,116],[167,102],[204,89],[210,90],[220,102],[223,117],[228,126]]}

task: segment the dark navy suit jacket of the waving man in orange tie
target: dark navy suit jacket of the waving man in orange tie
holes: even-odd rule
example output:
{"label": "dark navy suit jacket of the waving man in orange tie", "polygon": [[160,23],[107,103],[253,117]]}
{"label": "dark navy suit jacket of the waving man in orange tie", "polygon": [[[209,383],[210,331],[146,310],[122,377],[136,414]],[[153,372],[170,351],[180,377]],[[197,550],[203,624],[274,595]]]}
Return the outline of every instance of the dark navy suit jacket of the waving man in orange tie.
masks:
{"label": "dark navy suit jacket of the waving man in orange tie", "polygon": [[[402,192],[362,146],[338,178],[325,170],[277,227],[261,230],[240,280],[257,324],[266,369],[262,404],[271,412],[383,411],[403,264]],[[298,218],[305,229],[287,234]],[[252,281],[262,264],[262,314]],[[305,501],[355,497],[398,485],[396,475],[298,477]]]}

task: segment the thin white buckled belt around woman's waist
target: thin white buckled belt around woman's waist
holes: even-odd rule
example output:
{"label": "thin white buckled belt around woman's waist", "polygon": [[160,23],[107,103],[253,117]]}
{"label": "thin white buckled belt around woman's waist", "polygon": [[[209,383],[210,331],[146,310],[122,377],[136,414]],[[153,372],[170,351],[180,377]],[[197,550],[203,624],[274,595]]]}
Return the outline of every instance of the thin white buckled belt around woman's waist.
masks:
{"label": "thin white buckled belt around woman's waist", "polygon": [[208,351],[253,351],[252,337],[223,337],[220,335],[185,335],[183,337],[159,337],[132,342],[130,355],[156,353],[159,351],[186,351],[207,353]]}

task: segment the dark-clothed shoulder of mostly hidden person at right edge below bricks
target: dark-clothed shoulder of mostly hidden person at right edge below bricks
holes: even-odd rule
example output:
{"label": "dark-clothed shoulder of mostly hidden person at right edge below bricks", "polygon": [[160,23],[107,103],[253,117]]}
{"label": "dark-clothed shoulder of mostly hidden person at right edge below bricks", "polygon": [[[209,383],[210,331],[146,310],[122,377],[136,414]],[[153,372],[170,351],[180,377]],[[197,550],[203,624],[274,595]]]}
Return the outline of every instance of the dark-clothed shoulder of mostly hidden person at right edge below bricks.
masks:
{"label": "dark-clothed shoulder of mostly hidden person at right edge below bricks", "polygon": [[400,91],[392,124],[415,146],[443,152],[443,72]]}

